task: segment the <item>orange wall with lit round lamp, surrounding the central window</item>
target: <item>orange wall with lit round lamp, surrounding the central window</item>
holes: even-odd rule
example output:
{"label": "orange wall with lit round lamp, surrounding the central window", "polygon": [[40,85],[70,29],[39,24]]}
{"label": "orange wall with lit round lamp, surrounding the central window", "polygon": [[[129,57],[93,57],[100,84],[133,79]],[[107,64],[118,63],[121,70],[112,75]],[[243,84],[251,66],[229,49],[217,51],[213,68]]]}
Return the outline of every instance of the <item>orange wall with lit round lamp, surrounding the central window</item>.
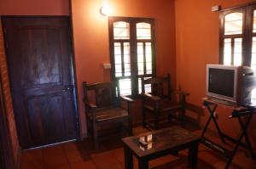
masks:
{"label": "orange wall with lit round lamp, surrounding the central window", "polygon": [[[172,73],[175,80],[175,26],[174,1],[162,0],[108,0],[113,16],[152,17],[156,30],[156,65],[159,75]],[[72,0],[74,50],[76,59],[79,108],[82,133],[84,125],[83,90],[81,83],[109,81],[108,17],[99,13],[102,0]],[[175,84],[175,81],[173,81]]]}

